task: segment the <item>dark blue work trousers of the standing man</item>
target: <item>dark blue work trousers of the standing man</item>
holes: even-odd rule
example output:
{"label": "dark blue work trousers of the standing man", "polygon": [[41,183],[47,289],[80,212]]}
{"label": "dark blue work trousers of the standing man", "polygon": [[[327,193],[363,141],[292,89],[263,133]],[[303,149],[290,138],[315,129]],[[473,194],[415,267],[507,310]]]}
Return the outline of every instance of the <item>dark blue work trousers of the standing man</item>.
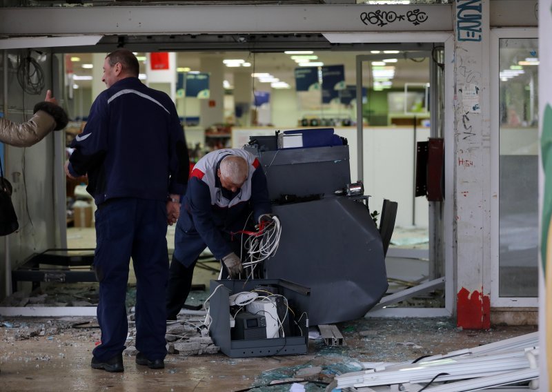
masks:
{"label": "dark blue work trousers of the standing man", "polygon": [[125,299],[130,257],[136,275],[136,348],[148,360],[166,356],[165,291],[168,281],[166,203],[120,198],[96,210],[94,269],[99,281],[101,344],[93,351],[109,360],[125,349]]}

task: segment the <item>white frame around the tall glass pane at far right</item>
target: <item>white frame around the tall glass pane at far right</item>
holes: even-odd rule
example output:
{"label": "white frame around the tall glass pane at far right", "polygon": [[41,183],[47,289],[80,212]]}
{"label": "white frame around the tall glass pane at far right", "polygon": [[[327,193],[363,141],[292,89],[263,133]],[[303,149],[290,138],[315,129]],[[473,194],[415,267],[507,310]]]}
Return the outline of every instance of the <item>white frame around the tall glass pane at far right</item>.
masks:
{"label": "white frame around the tall glass pane at far right", "polygon": [[[538,38],[538,28],[491,28],[491,307],[538,307],[538,297],[500,297],[500,95],[499,44],[504,38]],[[538,173],[535,173],[538,175]],[[535,282],[538,284],[538,282]]]}

